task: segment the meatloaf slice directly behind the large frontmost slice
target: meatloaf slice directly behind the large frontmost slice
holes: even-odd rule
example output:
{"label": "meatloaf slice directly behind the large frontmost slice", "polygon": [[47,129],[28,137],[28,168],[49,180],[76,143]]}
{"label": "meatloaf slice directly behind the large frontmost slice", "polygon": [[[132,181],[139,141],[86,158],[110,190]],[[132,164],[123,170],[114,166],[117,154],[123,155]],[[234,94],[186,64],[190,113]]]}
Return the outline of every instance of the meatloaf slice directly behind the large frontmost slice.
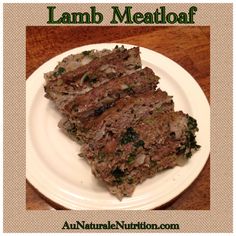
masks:
{"label": "meatloaf slice directly behind the large frontmost slice", "polygon": [[172,97],[158,89],[140,96],[124,97],[102,115],[90,117],[86,122],[64,118],[60,121],[59,127],[76,141],[89,142],[91,140],[99,145],[99,140],[106,133],[119,133],[120,130],[129,127],[148,114],[173,110]]}

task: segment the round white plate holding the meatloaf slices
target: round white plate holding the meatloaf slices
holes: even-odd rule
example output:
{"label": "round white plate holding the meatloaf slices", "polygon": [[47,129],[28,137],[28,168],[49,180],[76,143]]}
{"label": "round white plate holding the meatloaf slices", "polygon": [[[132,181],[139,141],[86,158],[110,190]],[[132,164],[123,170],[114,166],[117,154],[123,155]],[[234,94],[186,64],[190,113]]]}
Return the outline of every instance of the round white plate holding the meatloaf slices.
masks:
{"label": "round white plate holding the meatloaf slices", "polygon": [[[44,98],[43,74],[69,54],[114,48],[116,43],[94,44],[67,51],[40,66],[26,82],[26,177],[42,194],[69,209],[148,210],[161,206],[185,190],[204,167],[210,151],[210,108],[193,77],[169,58],[140,48],[143,67],[161,77],[160,88],[174,96],[175,110],[197,119],[201,149],[183,167],[163,171],[137,186],[131,198],[112,196],[79,158],[80,147],[57,127],[60,114]],[[126,48],[132,45],[124,45]]]}

